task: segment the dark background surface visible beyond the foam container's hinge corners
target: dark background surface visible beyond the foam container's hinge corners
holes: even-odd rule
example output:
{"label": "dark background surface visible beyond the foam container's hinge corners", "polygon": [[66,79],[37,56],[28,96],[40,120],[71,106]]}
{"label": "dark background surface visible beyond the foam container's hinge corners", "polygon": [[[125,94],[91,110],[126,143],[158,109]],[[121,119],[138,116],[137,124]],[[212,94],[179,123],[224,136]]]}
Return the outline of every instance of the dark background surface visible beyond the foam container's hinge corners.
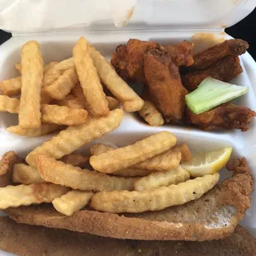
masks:
{"label": "dark background surface visible beyond the foam container's hinge corners", "polygon": [[[247,40],[250,46],[249,53],[256,60],[256,9],[248,17],[244,18],[243,21],[227,28],[225,31],[230,36]],[[0,30],[0,45],[11,38],[11,36],[11,34]]]}

